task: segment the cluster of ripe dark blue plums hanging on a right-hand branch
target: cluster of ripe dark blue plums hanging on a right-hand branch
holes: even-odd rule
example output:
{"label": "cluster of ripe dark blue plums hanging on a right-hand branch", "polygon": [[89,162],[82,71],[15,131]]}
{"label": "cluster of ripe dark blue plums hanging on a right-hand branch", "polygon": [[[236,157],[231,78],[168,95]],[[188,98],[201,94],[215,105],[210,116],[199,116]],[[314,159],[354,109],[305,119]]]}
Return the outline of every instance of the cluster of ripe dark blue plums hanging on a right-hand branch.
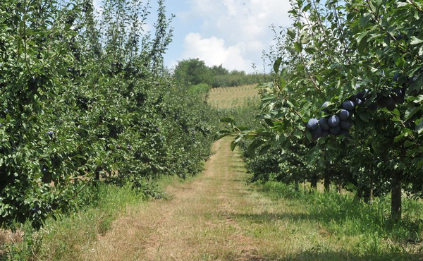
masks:
{"label": "cluster of ripe dark blue plums hanging on a right-hand branch", "polygon": [[[394,75],[393,80],[398,80],[399,75]],[[359,88],[360,86],[357,86]],[[357,94],[351,96],[348,100],[342,103],[342,109],[337,114],[326,116],[321,119],[309,119],[307,122],[307,129],[312,133],[312,139],[317,140],[328,135],[349,135],[350,128],[353,126],[351,115],[355,111],[355,107],[364,104],[367,99],[369,90],[365,89]],[[379,108],[386,108],[393,111],[396,104],[403,104],[405,98],[405,87],[393,88],[391,93],[387,96],[378,94],[376,102],[369,104],[368,109],[376,110]],[[328,111],[329,102],[325,102],[322,111]]]}

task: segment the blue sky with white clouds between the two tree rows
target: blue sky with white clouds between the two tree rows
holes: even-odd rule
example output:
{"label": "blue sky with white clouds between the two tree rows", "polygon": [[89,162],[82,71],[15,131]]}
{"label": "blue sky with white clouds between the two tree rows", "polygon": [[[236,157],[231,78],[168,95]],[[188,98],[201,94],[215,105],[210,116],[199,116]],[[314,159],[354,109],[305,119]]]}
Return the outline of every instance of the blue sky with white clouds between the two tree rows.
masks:
{"label": "blue sky with white clouds between the two tree rows", "polygon": [[[151,5],[154,18],[157,3],[152,0]],[[274,38],[270,25],[291,23],[289,0],[166,0],[165,6],[168,16],[176,16],[173,42],[164,56],[168,68],[198,58],[207,66],[246,72],[255,63],[262,71],[262,51]]]}

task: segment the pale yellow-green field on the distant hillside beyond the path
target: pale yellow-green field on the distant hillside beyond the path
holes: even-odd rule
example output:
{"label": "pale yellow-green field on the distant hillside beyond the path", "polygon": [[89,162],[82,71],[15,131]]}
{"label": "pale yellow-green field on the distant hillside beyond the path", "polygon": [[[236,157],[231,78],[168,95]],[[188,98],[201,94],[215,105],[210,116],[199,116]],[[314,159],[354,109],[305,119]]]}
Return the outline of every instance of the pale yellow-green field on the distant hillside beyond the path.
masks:
{"label": "pale yellow-green field on the distant hillside beyond the path", "polygon": [[259,102],[259,90],[253,85],[212,88],[207,102],[219,109],[245,107],[247,104]]}

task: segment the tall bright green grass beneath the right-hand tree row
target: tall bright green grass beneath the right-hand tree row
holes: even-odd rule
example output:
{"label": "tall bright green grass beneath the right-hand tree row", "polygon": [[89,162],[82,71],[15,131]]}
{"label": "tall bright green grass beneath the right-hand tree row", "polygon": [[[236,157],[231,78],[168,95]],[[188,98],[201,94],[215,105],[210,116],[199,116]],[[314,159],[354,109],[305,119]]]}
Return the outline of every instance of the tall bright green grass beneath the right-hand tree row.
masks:
{"label": "tall bright green grass beneath the right-hand tree row", "polygon": [[[423,257],[423,202],[405,198],[403,219],[396,223],[390,217],[390,196],[376,198],[372,205],[353,195],[337,191],[321,193],[305,188],[269,181],[259,190],[273,200],[290,200],[301,205],[307,214],[294,219],[307,219],[327,233],[343,238],[356,236],[360,243],[353,250],[360,256],[393,257],[403,260],[406,253],[421,253]],[[396,259],[398,257],[398,259]],[[377,259],[376,260],[383,260]]]}

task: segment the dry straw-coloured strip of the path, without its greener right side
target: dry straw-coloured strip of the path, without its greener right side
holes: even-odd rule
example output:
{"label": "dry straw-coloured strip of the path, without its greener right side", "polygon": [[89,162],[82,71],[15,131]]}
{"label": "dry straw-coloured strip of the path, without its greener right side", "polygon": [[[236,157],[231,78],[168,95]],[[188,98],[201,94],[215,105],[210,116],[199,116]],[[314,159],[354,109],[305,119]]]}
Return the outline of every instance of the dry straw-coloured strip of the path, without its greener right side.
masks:
{"label": "dry straw-coloured strip of the path, without its greener right side", "polygon": [[201,176],[168,188],[171,200],[131,210],[87,251],[86,260],[262,260],[257,242],[234,219],[253,207],[245,169],[230,140],[214,144],[216,154]]}

